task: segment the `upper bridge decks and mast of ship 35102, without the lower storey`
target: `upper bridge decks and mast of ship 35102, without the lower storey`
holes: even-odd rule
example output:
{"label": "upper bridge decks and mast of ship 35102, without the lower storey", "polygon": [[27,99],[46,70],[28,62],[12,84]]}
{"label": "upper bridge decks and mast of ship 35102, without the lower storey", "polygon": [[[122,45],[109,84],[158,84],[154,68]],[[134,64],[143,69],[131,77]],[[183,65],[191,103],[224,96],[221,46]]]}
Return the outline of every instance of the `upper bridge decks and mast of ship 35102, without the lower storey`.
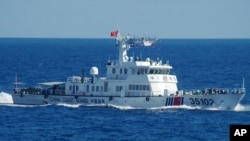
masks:
{"label": "upper bridge decks and mast of ship 35102, without the lower storey", "polygon": [[118,33],[117,40],[119,57],[118,60],[107,62],[107,79],[125,80],[131,75],[168,75],[172,69],[168,61],[164,63],[159,58],[142,60],[139,57],[129,57],[127,55],[127,51],[131,48],[128,43],[129,37],[122,37]]}

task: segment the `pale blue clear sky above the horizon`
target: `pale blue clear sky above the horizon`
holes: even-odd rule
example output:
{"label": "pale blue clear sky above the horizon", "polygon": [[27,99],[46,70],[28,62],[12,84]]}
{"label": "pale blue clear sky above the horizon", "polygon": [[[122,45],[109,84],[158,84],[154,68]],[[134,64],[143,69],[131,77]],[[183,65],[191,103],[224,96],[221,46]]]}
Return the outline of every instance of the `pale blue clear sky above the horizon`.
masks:
{"label": "pale blue clear sky above the horizon", "polygon": [[250,38],[250,0],[0,0],[0,37]]}

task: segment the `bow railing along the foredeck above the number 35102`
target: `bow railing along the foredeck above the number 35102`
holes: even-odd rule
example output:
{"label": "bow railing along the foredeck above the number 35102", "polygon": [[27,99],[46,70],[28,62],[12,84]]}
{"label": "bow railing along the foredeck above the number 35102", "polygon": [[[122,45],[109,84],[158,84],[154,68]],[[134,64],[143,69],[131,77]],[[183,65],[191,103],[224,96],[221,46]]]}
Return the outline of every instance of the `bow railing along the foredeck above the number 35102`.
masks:
{"label": "bow railing along the foredeck above the number 35102", "polygon": [[214,94],[245,94],[245,88],[205,88],[178,90],[176,95],[214,95]]}

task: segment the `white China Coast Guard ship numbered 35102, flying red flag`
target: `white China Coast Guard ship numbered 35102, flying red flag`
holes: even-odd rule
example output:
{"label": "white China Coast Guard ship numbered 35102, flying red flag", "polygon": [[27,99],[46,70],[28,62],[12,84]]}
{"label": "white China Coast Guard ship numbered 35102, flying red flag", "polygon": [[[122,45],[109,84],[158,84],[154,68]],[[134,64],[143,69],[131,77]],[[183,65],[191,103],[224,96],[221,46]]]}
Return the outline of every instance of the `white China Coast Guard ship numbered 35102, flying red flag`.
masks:
{"label": "white China Coast Guard ship numbered 35102, flying red flag", "polygon": [[119,57],[107,61],[106,77],[98,77],[98,68],[90,68],[90,77],[71,76],[66,82],[39,83],[36,87],[20,88],[15,83],[14,104],[81,104],[154,108],[186,105],[199,108],[233,110],[244,97],[242,88],[207,88],[178,90],[172,66],[162,60],[129,57],[129,37],[111,32],[117,39]]}

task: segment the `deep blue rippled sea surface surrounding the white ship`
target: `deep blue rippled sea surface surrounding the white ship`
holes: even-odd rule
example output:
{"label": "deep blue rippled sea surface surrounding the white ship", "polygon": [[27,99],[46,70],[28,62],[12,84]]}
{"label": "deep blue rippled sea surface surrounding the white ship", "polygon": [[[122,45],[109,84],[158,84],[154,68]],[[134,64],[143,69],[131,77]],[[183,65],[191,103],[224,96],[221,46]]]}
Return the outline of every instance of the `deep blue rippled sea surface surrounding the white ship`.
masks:
{"label": "deep blue rippled sea surface surrounding the white ship", "polygon": [[155,47],[132,48],[129,56],[169,61],[179,89],[242,87],[235,110],[187,106],[134,109],[81,105],[11,104],[13,83],[33,86],[88,75],[105,76],[116,60],[115,39],[0,38],[1,141],[228,141],[230,124],[250,124],[249,39],[160,39]]}

